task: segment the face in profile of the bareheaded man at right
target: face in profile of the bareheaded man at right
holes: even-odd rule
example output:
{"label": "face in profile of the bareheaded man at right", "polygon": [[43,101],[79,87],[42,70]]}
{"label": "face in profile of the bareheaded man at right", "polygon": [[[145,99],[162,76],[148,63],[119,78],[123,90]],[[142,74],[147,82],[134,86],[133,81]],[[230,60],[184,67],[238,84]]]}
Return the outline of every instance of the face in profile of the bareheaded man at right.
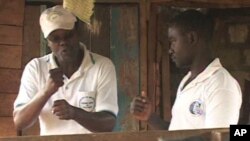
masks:
{"label": "face in profile of the bareheaded man at right", "polygon": [[193,52],[188,33],[177,27],[169,27],[169,54],[179,68],[188,68],[192,64]]}

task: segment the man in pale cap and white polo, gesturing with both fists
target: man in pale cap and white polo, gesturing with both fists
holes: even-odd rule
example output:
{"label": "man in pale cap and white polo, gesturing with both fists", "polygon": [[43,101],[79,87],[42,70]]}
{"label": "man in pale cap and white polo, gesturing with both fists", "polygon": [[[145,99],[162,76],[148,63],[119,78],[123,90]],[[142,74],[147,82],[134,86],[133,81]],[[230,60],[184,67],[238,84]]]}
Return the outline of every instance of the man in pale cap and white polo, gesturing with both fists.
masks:
{"label": "man in pale cap and white polo, gesturing with both fists", "polygon": [[111,60],[79,42],[77,18],[62,6],[46,9],[40,26],[52,53],[24,69],[14,103],[17,129],[39,118],[41,135],[112,131],[118,104]]}

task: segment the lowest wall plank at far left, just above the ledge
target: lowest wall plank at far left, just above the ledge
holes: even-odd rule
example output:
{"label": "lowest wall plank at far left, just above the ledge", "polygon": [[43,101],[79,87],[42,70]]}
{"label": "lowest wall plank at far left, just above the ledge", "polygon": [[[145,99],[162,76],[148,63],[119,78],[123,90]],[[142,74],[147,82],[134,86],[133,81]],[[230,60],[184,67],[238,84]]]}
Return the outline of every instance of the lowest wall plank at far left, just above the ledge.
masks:
{"label": "lowest wall plank at far left, just above the ledge", "polygon": [[16,129],[12,117],[0,117],[0,125],[0,138],[16,136]]}

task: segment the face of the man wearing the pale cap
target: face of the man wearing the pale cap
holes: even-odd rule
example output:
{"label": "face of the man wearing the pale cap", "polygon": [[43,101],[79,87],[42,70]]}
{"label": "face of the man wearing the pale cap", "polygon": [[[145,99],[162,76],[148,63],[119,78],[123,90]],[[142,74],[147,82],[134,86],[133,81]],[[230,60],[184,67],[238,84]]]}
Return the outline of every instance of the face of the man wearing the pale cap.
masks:
{"label": "face of the man wearing the pale cap", "polygon": [[79,40],[75,29],[58,29],[49,34],[48,46],[59,62],[71,62],[79,52]]}

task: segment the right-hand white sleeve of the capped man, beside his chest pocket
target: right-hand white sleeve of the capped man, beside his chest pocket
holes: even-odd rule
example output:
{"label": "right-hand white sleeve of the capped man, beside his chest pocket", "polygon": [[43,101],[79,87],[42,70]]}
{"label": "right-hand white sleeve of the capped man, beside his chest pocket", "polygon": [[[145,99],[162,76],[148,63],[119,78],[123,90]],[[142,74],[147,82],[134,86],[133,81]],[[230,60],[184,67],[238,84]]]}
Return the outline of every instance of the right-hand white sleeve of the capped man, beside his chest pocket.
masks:
{"label": "right-hand white sleeve of the capped man, beside his chest pocket", "polygon": [[109,111],[118,114],[117,80],[113,63],[109,60],[102,64],[98,76],[96,112]]}

